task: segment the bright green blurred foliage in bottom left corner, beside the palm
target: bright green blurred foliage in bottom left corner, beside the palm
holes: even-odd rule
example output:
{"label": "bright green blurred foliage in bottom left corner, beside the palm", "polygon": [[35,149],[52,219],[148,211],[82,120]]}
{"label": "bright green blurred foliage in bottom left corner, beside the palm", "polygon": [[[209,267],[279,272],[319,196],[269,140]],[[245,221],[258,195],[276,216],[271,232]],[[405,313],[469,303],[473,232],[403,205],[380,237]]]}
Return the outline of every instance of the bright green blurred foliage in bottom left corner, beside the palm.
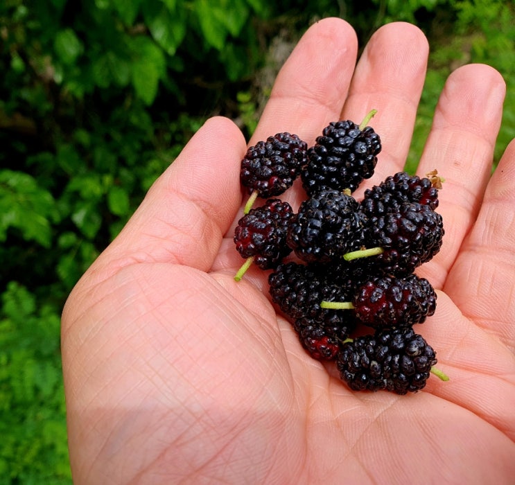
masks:
{"label": "bright green blurred foliage in bottom left corner, beside the palm", "polygon": [[7,285],[0,309],[1,484],[71,483],[59,326],[58,308],[38,308],[23,285]]}

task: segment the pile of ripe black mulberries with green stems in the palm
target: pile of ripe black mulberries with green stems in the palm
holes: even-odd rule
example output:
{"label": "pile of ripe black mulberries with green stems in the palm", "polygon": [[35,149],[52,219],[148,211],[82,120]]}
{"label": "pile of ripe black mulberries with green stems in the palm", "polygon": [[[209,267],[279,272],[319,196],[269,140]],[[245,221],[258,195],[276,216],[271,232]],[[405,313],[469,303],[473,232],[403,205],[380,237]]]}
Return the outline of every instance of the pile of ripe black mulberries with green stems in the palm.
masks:
{"label": "pile of ripe black mulberries with green stems in the palm", "polygon": [[[399,172],[352,193],[374,175],[381,138],[367,123],[335,121],[313,147],[283,132],[250,147],[241,184],[250,197],[234,233],[245,263],[268,274],[272,302],[304,349],[335,362],[349,389],[407,394],[423,389],[435,350],[415,333],[435,313],[437,294],[415,274],[442,247],[436,211],[441,179]],[[277,198],[302,180],[295,211]],[[268,198],[254,207],[258,197]]]}

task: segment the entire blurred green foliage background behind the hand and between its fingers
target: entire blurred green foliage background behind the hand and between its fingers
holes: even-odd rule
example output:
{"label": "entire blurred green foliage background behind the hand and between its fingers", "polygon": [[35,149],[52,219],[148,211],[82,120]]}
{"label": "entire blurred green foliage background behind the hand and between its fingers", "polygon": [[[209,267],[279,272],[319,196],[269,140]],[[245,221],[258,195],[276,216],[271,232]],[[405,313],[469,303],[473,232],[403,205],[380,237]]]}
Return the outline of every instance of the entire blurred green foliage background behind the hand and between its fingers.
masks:
{"label": "entire blurred green foliage background behind the hand and between its fingers", "polygon": [[424,29],[432,49],[412,171],[461,64],[486,62],[507,81],[497,159],[514,136],[514,14],[503,0],[4,0],[0,485],[71,483],[59,342],[67,294],[208,116],[252,133],[277,45],[290,48],[328,16],[350,21],[362,44],[393,20]]}

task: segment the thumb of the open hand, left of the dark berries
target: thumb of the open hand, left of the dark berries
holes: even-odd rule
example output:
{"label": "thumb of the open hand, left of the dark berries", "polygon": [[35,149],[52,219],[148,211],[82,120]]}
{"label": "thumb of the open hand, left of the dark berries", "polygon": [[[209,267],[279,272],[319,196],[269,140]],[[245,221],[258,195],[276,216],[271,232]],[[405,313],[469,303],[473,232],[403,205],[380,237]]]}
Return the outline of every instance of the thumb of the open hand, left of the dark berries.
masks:
{"label": "thumb of the open hand, left of the dark berries", "polygon": [[234,123],[209,119],[150,188],[91,272],[106,270],[107,265],[107,274],[97,276],[104,278],[141,262],[209,270],[241,204],[239,166],[244,153],[245,139]]}

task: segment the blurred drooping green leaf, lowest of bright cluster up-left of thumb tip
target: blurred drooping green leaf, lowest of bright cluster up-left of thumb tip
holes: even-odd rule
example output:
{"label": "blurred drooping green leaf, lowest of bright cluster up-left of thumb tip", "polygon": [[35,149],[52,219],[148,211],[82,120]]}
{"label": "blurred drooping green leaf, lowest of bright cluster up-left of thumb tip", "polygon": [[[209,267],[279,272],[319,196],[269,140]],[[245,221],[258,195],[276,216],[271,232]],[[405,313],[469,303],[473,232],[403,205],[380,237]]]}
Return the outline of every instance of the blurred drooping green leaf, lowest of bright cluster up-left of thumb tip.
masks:
{"label": "blurred drooping green leaf, lowest of bright cluster up-left of thumb tip", "polygon": [[164,53],[151,39],[141,35],[132,39],[132,49],[132,86],[143,103],[151,105],[157,96],[159,79],[165,73]]}

